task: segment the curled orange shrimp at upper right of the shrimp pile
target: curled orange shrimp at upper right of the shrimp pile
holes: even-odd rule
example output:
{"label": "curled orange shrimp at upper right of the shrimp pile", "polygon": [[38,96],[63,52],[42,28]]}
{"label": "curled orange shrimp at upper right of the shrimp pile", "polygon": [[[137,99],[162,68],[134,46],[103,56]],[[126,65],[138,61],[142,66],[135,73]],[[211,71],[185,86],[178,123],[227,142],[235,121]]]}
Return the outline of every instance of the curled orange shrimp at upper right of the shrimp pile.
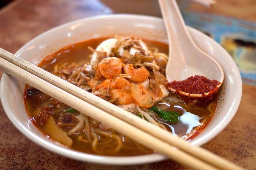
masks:
{"label": "curled orange shrimp at upper right of the shrimp pile", "polygon": [[135,69],[133,67],[133,64],[125,65],[124,67],[125,74],[128,74],[131,76],[131,80],[134,82],[142,83],[145,80],[147,80],[150,73],[145,67],[140,67],[138,69]]}

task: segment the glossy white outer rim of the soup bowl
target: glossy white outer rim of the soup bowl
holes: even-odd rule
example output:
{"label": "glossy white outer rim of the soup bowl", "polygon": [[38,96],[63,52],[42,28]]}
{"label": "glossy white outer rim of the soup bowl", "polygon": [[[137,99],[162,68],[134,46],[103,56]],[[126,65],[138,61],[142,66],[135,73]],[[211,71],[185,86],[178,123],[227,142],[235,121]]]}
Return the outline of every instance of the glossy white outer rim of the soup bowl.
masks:
{"label": "glossy white outer rim of the soup bowl", "polygon": [[[163,21],[162,18],[160,17],[154,17],[150,15],[138,15],[138,14],[106,14],[106,15],[97,15],[93,17],[85,17],[81,18],[78,20],[70,21],[68,23],[61,24],[59,26],[53,27],[52,29],[49,29],[40,35],[37,35],[35,38],[31,39],[28,41],[24,46],[22,46],[16,53],[15,55],[19,55],[22,53],[22,51],[25,49],[27,44],[32,43],[35,41],[35,39],[47,35],[49,32],[52,32],[53,30],[58,30],[61,27],[65,27],[77,22],[81,21],[88,21],[88,20],[95,20],[99,18],[129,18],[129,19],[140,19],[140,20],[155,20],[155,21]],[[202,32],[187,26],[189,32],[197,32],[199,34],[203,34]],[[203,34],[205,38],[207,38],[208,41],[211,41],[211,43],[216,44],[217,46],[220,46],[216,41],[213,39],[207,37],[206,35]],[[221,47],[221,46],[220,46]],[[221,47],[222,48],[222,47]],[[226,52],[227,53],[227,52]],[[228,53],[227,53],[228,54]],[[229,55],[228,55],[229,56]],[[231,56],[230,56],[231,58]],[[234,68],[236,73],[239,73],[238,68]],[[108,164],[108,165],[136,165],[136,164],[145,164],[145,163],[152,163],[152,162],[158,162],[162,161],[164,159],[167,159],[166,156],[160,155],[158,153],[152,153],[148,155],[139,155],[139,156],[102,156],[102,155],[94,155],[94,154],[89,154],[89,153],[83,153],[79,152],[76,150],[71,150],[71,149],[64,149],[63,147],[57,146],[55,144],[52,144],[48,141],[42,140],[40,137],[37,135],[33,134],[30,132],[28,129],[26,129],[24,126],[22,126],[21,123],[19,123],[19,120],[12,114],[11,109],[7,105],[7,101],[5,100],[5,94],[3,93],[3,86],[4,86],[4,79],[8,78],[7,73],[3,73],[1,82],[0,82],[0,99],[3,105],[3,109],[6,112],[6,115],[8,116],[9,120],[11,120],[12,124],[20,131],[22,132],[23,135],[25,135],[27,138],[32,140],[34,143],[38,144],[39,146],[42,146],[52,152],[58,153],[60,155],[66,156],[71,159],[77,159],[80,161],[86,161],[86,162],[92,162],[92,163],[97,163],[97,164]],[[219,132],[221,132],[228,123],[232,120],[234,115],[236,114],[236,111],[239,107],[239,103],[241,101],[241,96],[242,96],[242,79],[240,76],[240,73],[236,75],[237,78],[239,79],[239,82],[237,83],[237,87],[241,90],[237,91],[237,97],[236,97],[236,102],[235,105],[233,105],[233,109],[231,109],[230,114],[226,116],[220,123],[219,126],[211,130],[211,135],[208,136],[207,138],[204,138],[204,140],[200,140],[197,143],[194,143],[193,141],[191,142],[192,145],[202,145],[208,141],[210,141],[212,138],[214,138]],[[11,77],[11,76],[9,76]]]}

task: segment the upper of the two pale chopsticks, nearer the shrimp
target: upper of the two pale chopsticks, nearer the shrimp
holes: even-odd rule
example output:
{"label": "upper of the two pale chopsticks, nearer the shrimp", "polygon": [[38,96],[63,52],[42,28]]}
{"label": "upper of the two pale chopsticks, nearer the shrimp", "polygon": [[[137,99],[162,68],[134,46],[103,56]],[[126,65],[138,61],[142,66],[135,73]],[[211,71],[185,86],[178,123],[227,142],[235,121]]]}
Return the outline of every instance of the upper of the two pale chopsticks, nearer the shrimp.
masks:
{"label": "upper of the two pale chopsticks, nearer the shrimp", "polygon": [[[39,68],[39,67],[13,55],[1,48],[0,48],[0,57],[3,59],[6,59],[7,61],[11,62],[12,64],[14,64],[20,68],[23,68],[24,70],[28,71],[29,73],[34,74],[35,76],[37,76],[37,78],[40,77],[43,80],[46,80],[47,82],[51,83],[52,85],[55,85],[56,87],[59,87],[62,90],[66,91],[70,94],[73,94],[77,98],[82,99],[85,102],[88,102],[91,105],[96,106],[97,108],[99,108],[105,112],[108,112],[109,114],[112,114],[114,117],[117,117],[123,121],[126,121],[127,123],[132,124],[133,126],[141,129],[142,131],[145,131],[148,134],[151,134],[154,137],[159,138],[160,140],[162,140],[166,143],[172,144],[172,145],[178,147],[179,149],[184,150],[185,152],[187,152],[187,153],[189,153],[189,154],[191,154],[191,155],[193,155],[193,156],[195,156],[195,157],[197,157],[197,158],[199,158],[217,168],[220,168],[220,169],[239,169],[240,168],[237,165],[234,165],[231,162],[228,162],[227,160],[220,158],[219,156],[214,155],[213,153],[211,153],[205,149],[202,149],[198,146],[191,147],[191,145],[189,143],[185,142],[184,140],[180,139],[179,137],[174,137],[170,132],[167,132],[167,131],[161,129],[160,127],[158,127],[154,124],[151,124],[145,120],[142,120],[141,118],[137,117],[136,115],[133,115],[130,112],[127,112],[127,111],[119,108],[118,106],[113,105],[112,103],[109,103],[97,96],[94,96],[93,94],[91,94],[85,90],[82,90],[81,88],[79,88],[75,85],[72,85],[71,83],[66,82],[65,80],[63,80],[57,76],[54,76],[53,74],[43,70],[42,68]],[[34,86],[32,83],[28,83],[28,84]],[[35,88],[38,88],[38,87],[35,87]],[[40,90],[40,88],[38,88],[38,89]],[[45,91],[43,91],[43,92],[45,92]],[[45,93],[48,93],[48,92],[45,92]],[[49,94],[49,95],[52,97],[55,97],[51,94]],[[62,101],[62,100],[60,99],[60,101]],[[69,105],[68,103],[66,103],[66,104]],[[77,109],[77,110],[79,110],[79,109]],[[104,123],[102,120],[99,120],[99,121]],[[106,123],[106,124],[108,124],[108,123]],[[110,126],[113,127],[112,125],[110,125]],[[159,153],[161,153],[161,152],[159,152]]]}

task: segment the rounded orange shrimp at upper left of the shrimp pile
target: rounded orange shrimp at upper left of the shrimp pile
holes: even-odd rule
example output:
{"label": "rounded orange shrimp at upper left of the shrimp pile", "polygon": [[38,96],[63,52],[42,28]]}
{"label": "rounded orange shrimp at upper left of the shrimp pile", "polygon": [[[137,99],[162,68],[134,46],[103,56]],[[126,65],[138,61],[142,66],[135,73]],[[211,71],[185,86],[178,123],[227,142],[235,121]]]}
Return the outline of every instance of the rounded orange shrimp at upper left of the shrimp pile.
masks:
{"label": "rounded orange shrimp at upper left of the shrimp pile", "polygon": [[[122,61],[116,57],[108,57],[104,58],[97,65],[96,73],[101,74],[106,79],[113,79],[117,75],[122,73]],[[101,76],[97,76],[101,78]],[[97,78],[96,77],[96,78]]]}

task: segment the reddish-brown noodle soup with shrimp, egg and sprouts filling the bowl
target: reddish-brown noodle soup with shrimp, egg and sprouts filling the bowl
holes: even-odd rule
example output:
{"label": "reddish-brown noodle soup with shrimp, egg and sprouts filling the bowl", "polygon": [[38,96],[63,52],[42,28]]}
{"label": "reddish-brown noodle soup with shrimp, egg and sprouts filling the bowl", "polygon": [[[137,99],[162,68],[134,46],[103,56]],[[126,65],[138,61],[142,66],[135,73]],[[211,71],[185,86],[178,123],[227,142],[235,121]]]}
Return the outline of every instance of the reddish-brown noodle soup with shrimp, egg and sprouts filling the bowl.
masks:
{"label": "reddish-brown noodle soup with shrimp, egg and sprouts filling the bowl", "polygon": [[[97,38],[46,56],[39,67],[149,121],[184,140],[196,137],[214,114],[210,101],[186,102],[167,90],[168,44],[133,37]],[[26,85],[26,110],[47,137],[97,155],[153,153],[111,127]]]}

